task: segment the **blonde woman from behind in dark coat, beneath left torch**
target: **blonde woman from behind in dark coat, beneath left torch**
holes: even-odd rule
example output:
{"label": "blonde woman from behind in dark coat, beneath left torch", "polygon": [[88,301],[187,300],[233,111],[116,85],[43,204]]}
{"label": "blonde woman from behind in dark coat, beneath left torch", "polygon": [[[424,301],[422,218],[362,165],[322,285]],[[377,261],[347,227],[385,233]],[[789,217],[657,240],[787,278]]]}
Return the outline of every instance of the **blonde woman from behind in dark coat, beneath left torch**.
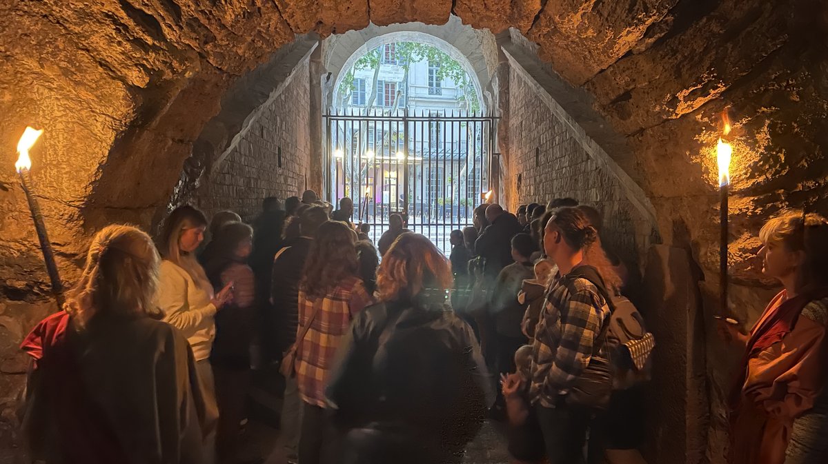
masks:
{"label": "blonde woman from behind in dark coat, beneath left torch", "polygon": [[181,332],[158,320],[158,263],[146,233],[104,227],[64,310],[22,343],[32,358],[23,428],[34,460],[203,462],[195,362]]}

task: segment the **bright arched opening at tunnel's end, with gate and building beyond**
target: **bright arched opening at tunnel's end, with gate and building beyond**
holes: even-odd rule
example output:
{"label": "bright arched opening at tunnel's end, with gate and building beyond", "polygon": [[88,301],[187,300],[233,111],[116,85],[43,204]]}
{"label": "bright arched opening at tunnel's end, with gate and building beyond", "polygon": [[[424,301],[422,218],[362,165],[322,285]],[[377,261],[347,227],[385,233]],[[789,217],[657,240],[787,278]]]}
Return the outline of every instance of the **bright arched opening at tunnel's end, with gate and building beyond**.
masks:
{"label": "bright arched opening at tunnel's end, with gate and building beyond", "polygon": [[474,204],[497,184],[498,117],[469,59],[436,36],[395,31],[366,41],[331,80],[328,199],[357,199],[354,218],[374,242],[398,213],[448,255],[450,232],[472,225]]}

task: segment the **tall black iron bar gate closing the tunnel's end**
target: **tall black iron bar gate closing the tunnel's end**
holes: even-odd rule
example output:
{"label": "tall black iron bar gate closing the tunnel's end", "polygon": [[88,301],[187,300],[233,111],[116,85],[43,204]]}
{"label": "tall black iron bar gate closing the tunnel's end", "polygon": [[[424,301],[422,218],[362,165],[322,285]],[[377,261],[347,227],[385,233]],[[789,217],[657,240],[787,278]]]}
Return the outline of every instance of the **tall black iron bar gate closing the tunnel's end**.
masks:
{"label": "tall black iron bar gate closing the tunnel's end", "polygon": [[374,243],[400,213],[448,254],[450,232],[472,224],[489,191],[497,117],[466,112],[325,114],[328,197],[354,200]]}

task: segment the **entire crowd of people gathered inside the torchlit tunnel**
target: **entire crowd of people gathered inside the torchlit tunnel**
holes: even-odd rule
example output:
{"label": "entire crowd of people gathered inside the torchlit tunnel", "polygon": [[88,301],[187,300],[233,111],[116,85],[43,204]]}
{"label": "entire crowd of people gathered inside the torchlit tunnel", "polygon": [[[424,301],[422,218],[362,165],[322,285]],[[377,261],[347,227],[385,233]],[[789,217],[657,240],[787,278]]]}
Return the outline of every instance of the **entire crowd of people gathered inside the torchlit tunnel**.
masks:
{"label": "entire crowd of people gathered inside the torchlit tunnel", "polygon": [[[515,462],[644,462],[656,340],[596,208],[483,204],[448,257],[397,214],[375,247],[353,214],[309,190],[252,226],[185,205],[154,242],[104,227],[22,344],[32,457],[235,462],[255,368],[284,377],[288,462],[461,462],[487,418]],[[718,322],[744,349],[729,462],[825,462],[828,221],[781,213],[759,237],[784,289],[749,333]]]}

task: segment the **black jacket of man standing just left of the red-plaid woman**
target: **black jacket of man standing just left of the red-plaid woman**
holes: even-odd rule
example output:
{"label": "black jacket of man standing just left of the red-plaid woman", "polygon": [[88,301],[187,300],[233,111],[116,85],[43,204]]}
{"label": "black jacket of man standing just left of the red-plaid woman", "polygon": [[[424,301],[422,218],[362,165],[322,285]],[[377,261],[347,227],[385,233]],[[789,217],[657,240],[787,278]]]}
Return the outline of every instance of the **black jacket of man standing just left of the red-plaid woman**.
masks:
{"label": "black jacket of man standing just left of the red-plaid woman", "polygon": [[289,248],[273,261],[270,285],[272,314],[265,324],[271,332],[273,342],[268,351],[271,351],[274,360],[281,359],[282,352],[296,341],[299,326],[299,282],[312,242],[310,237],[293,238],[285,243]]}

